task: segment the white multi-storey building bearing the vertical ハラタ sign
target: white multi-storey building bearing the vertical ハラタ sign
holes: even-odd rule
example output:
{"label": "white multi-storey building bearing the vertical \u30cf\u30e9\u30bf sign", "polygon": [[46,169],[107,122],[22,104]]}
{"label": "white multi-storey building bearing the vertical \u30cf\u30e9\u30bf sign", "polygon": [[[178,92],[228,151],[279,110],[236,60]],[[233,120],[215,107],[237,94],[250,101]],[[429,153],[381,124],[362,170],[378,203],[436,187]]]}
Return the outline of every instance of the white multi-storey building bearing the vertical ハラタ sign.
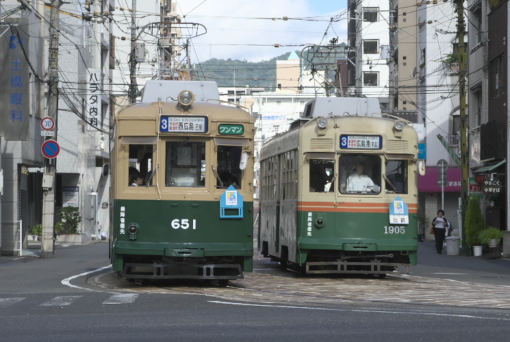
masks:
{"label": "white multi-storey building bearing the vertical \u30cf\u30e9\u30bf sign", "polygon": [[[80,233],[90,241],[110,222],[110,116],[114,39],[110,35],[114,0],[94,2],[90,21],[64,13],[60,17],[58,141],[55,213],[78,206]],[[62,11],[80,12],[77,4]],[[103,15],[95,15],[94,12]],[[58,222],[58,220],[55,220]]]}

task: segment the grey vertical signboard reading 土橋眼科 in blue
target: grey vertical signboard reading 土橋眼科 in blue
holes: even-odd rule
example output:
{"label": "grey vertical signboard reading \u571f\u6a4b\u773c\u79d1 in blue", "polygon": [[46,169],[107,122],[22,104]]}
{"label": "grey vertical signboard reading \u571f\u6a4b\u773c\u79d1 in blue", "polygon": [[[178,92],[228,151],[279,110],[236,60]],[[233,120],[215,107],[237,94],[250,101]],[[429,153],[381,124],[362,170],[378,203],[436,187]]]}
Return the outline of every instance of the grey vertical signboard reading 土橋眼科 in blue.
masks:
{"label": "grey vertical signboard reading \u571f\u6a4b\u773c\u79d1 in blue", "polygon": [[[6,22],[14,21],[5,19]],[[27,18],[16,18],[0,39],[1,96],[0,135],[7,141],[29,140],[29,70],[25,59],[29,55],[26,30]],[[25,51],[25,53],[23,52]]]}

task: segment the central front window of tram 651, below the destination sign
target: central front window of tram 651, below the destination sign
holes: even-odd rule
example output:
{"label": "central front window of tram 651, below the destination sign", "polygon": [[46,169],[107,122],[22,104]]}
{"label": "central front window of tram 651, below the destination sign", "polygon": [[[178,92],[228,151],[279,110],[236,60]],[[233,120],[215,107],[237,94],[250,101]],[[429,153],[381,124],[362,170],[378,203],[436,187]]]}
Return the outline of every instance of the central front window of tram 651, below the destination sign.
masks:
{"label": "central front window of tram 651, below the destination sign", "polygon": [[205,142],[166,142],[166,187],[205,187]]}

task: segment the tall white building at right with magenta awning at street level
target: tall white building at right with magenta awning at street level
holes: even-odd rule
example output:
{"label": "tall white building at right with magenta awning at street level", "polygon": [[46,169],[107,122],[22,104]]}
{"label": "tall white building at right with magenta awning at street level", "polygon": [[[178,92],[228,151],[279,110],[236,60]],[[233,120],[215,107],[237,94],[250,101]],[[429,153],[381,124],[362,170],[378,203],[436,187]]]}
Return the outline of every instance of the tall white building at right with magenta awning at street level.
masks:
{"label": "tall white building at right with magenta awning at street level", "polygon": [[[418,120],[424,120],[426,128],[426,175],[418,179],[418,191],[422,195],[420,208],[425,208],[429,218],[435,217],[438,209],[444,209],[448,220],[458,227],[461,169],[456,18],[450,2],[427,1],[418,4],[416,107]],[[444,187],[437,183],[440,160],[448,163]]]}

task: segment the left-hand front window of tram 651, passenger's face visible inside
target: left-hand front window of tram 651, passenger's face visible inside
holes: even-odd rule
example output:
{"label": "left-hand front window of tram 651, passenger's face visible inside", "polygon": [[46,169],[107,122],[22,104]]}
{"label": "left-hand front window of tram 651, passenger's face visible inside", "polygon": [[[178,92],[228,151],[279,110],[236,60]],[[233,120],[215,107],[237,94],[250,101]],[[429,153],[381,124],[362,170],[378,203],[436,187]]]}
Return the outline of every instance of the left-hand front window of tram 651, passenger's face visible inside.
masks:
{"label": "left-hand front window of tram 651, passenger's face visible inside", "polygon": [[128,186],[153,185],[153,144],[129,144]]}

